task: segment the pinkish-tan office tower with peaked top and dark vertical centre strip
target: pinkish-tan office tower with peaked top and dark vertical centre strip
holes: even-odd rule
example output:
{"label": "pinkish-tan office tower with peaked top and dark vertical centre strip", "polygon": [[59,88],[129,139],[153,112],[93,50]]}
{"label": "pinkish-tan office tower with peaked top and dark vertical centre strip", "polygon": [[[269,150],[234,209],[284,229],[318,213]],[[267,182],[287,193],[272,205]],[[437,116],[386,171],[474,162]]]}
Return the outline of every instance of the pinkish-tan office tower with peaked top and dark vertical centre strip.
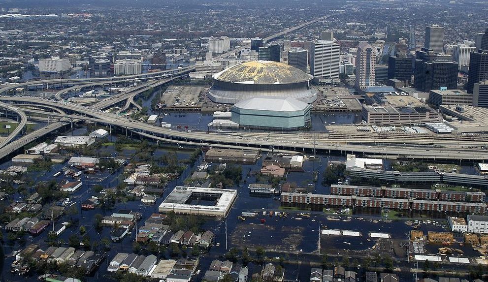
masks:
{"label": "pinkish-tan office tower with peaked top and dark vertical centre strip", "polygon": [[356,53],[356,88],[374,86],[376,51],[368,42],[359,42]]}

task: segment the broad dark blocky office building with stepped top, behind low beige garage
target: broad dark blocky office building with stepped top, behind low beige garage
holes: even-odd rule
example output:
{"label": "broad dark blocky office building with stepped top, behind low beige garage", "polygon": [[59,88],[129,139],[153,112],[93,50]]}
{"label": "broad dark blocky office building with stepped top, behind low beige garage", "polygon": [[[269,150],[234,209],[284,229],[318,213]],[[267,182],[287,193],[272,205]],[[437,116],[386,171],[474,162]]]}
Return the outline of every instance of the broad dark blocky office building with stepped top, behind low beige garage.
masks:
{"label": "broad dark blocky office building with stepped top, behind low beige garage", "polygon": [[450,56],[438,56],[434,51],[422,48],[417,51],[414,73],[414,87],[419,91],[457,88],[457,63],[452,62]]}

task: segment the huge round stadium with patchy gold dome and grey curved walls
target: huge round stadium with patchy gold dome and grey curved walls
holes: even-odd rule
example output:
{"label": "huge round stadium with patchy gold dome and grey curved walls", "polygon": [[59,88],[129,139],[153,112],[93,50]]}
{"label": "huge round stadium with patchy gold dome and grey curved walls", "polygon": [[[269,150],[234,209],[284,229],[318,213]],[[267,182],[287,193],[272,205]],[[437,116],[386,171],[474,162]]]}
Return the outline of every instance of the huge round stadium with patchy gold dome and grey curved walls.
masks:
{"label": "huge round stadium with patchy gold dome and grey curved walls", "polygon": [[310,87],[313,76],[286,63],[252,61],[229,67],[212,76],[209,98],[235,104],[256,96],[291,97],[306,103],[317,99]]}

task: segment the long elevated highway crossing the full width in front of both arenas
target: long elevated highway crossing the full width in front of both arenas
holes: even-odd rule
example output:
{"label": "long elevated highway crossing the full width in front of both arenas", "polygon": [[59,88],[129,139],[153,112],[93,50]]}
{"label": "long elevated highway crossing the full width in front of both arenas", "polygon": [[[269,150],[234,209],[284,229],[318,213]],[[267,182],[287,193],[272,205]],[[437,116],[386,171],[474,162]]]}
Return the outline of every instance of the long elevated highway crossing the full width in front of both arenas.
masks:
{"label": "long elevated highway crossing the full width in front of both arenas", "polygon": [[[25,97],[0,97],[0,100],[12,100],[20,103],[31,103],[29,98]],[[144,135],[146,137],[155,136],[158,138],[173,140],[171,142],[191,144],[194,145],[212,145],[216,146],[241,146],[241,147],[255,147],[268,148],[274,146],[282,150],[323,150],[325,152],[350,152],[350,153],[364,153],[369,155],[388,155],[398,157],[412,157],[412,158],[428,158],[428,159],[456,159],[456,160],[470,160],[470,159],[486,159],[488,158],[488,151],[482,149],[469,149],[468,146],[481,147],[486,142],[483,141],[452,141],[452,140],[437,140],[436,146],[433,146],[431,140],[417,139],[411,136],[408,139],[378,139],[378,138],[344,138],[344,139],[329,139],[327,135],[321,134],[314,140],[303,139],[300,133],[287,134],[267,134],[265,137],[263,133],[249,133],[241,134],[240,132],[229,133],[215,133],[215,132],[186,132],[177,131],[167,128],[148,125],[131,121],[129,119],[119,117],[114,114],[105,113],[89,108],[84,108],[75,104],[60,101],[58,103],[49,100],[40,100],[40,104],[59,107],[66,111],[71,111],[76,114],[62,115],[66,118],[78,118],[90,120],[106,125],[119,126],[121,128]],[[50,113],[46,113],[49,115]],[[360,143],[369,143],[370,146],[361,145]],[[411,145],[411,146],[408,146]],[[466,148],[463,148],[466,147]]]}

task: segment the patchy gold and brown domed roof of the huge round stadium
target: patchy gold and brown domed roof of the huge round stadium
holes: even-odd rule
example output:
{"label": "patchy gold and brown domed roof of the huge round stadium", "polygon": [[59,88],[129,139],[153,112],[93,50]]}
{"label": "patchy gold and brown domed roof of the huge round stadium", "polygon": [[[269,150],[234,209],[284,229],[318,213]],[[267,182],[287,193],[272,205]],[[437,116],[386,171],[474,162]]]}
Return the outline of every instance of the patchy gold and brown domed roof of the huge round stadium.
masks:
{"label": "patchy gold and brown domed roof of the huge round stadium", "polygon": [[240,84],[291,84],[312,80],[313,76],[286,63],[252,61],[229,67],[213,78]]}

